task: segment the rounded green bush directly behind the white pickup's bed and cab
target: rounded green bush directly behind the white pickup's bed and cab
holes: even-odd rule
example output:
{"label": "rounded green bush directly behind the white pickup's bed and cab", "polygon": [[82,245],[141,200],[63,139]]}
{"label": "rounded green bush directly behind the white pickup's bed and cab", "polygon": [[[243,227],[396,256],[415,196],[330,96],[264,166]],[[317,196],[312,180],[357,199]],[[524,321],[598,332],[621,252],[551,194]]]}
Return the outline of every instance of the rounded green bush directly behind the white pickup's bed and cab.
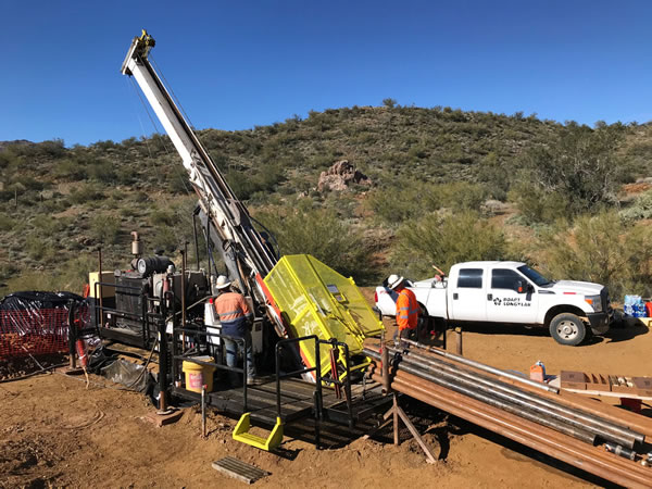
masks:
{"label": "rounded green bush directly behind the white pickup's bed and cab", "polygon": [[502,230],[472,211],[428,214],[406,223],[392,251],[397,273],[414,278],[430,276],[432,264],[447,271],[457,262],[511,258]]}

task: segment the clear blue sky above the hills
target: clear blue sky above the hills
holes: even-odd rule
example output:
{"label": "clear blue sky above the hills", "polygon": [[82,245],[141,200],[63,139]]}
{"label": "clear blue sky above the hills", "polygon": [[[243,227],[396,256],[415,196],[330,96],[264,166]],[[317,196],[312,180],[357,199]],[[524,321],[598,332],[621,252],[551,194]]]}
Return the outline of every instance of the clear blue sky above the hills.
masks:
{"label": "clear blue sky above the hills", "polygon": [[652,120],[649,1],[2,0],[0,140],[154,131],[120,66],[142,27],[197,128],[380,105]]}

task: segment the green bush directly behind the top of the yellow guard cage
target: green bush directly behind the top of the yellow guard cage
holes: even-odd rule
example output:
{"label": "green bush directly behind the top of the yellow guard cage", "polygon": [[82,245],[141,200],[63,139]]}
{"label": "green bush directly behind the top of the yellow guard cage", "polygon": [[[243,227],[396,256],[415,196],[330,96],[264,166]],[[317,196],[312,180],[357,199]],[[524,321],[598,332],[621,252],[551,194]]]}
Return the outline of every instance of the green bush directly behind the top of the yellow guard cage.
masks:
{"label": "green bush directly behind the top of the yellow guard cage", "polygon": [[281,254],[312,254],[347,277],[360,283],[368,279],[368,248],[361,233],[336,212],[283,209],[256,218],[276,237]]}

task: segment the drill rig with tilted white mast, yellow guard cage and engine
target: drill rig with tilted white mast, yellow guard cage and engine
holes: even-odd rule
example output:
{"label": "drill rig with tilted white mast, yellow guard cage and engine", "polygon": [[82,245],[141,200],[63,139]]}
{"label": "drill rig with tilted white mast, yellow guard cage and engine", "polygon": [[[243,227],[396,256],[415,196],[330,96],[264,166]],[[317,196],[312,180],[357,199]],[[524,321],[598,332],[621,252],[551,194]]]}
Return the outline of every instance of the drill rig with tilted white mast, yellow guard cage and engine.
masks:
{"label": "drill rig with tilted white mast, yellow guard cage and engine", "polygon": [[[136,236],[133,269],[106,274],[100,266],[95,286],[91,276],[92,297],[100,300],[101,312],[96,314],[100,336],[148,348],[156,338],[163,342],[170,339],[170,335],[175,344],[176,329],[184,333],[180,350],[186,352],[187,348],[195,348],[186,342],[184,329],[188,324],[192,323],[188,327],[202,331],[215,326],[212,305],[206,302],[212,294],[210,264],[211,249],[215,248],[222,255],[229,279],[252,305],[254,353],[264,353],[271,359],[276,341],[294,338],[294,361],[308,367],[315,368],[319,364],[324,375],[330,372],[336,378],[343,378],[352,371],[362,371],[368,364],[368,359],[362,354],[362,342],[364,338],[379,334],[381,323],[351,278],[342,277],[310,255],[280,258],[272,238],[264,230],[256,229],[246,206],[238,200],[150,63],[149,53],[153,47],[154,39],[143,30],[141,36],[133,39],[121,72],[136,80],[181,156],[198,196],[196,215],[201,220],[208,243],[209,269],[208,273],[186,269],[186,254],[180,274],[164,256],[142,258],[138,254],[142,249],[136,243]],[[113,284],[106,284],[108,279]],[[137,313],[131,321],[129,314],[120,311],[121,308],[106,317],[106,308],[101,303],[104,297],[102,287],[114,290],[115,302],[126,304],[131,314]],[[188,304],[191,304],[193,321],[187,323]],[[200,317],[200,310],[203,317]],[[177,322],[181,314],[183,319]],[[155,322],[164,323],[164,328],[149,326]],[[142,324],[140,329],[137,328],[138,323]],[[136,329],[138,341],[129,341],[134,338],[134,330],[125,335],[125,325]],[[218,324],[216,326],[220,327]],[[162,335],[163,331],[165,334]],[[298,340],[309,336],[316,338],[317,342]],[[211,342],[218,344],[218,340],[211,341],[210,337],[190,337],[199,349]],[[336,343],[340,346],[337,348],[340,348],[341,355],[329,361],[325,353],[335,349]],[[316,353],[315,348],[323,353]],[[351,360],[347,360],[349,353]],[[176,381],[177,377],[173,377]],[[303,377],[315,381],[317,375],[313,372]]]}

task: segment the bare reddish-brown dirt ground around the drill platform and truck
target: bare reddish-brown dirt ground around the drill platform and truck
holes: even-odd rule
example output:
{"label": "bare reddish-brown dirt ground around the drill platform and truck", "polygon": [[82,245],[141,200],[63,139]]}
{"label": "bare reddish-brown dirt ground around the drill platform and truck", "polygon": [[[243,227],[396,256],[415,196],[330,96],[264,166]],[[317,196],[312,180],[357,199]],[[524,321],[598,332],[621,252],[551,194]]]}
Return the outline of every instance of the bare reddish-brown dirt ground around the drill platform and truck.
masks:
{"label": "bare reddish-brown dirt ground around the drill platform and truck", "polygon": [[[651,350],[652,335],[643,326],[615,329],[577,348],[521,327],[478,326],[464,333],[466,356],[522,372],[541,360],[551,374],[578,369],[652,376]],[[381,437],[322,451],[286,438],[281,457],[234,441],[236,422],[214,412],[209,437],[201,439],[197,408],[186,409],[176,424],[158,428],[142,419],[153,411],[145,396],[120,390],[101,377],[92,380],[88,390],[83,378],[63,373],[0,384],[0,487],[241,487],[243,482],[211,467],[224,456],[268,471],[256,487],[599,484],[460,419],[447,422],[440,413],[432,414],[440,423],[426,435],[436,454],[437,440],[442,440],[446,456],[434,465],[409,437],[399,447]]]}

